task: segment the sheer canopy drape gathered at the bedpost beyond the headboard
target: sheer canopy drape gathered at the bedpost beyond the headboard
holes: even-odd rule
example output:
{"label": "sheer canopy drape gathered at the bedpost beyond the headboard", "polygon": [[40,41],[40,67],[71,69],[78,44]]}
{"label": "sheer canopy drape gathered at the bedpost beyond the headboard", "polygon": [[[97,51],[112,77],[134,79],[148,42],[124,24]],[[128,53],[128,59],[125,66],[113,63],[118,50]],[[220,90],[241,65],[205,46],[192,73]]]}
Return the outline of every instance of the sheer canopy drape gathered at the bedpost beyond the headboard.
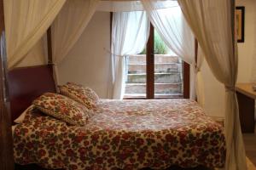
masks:
{"label": "sheer canopy drape gathered at the bedpost beyond the headboard", "polygon": [[83,33],[99,0],[67,0],[51,27],[55,82],[58,84],[57,65],[67,56]]}

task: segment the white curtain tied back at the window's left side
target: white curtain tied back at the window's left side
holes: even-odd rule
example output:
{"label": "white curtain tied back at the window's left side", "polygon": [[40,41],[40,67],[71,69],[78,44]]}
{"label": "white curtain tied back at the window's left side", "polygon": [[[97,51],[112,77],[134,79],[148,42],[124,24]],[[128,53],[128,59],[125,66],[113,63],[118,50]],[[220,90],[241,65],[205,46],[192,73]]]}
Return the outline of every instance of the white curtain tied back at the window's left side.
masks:
{"label": "white curtain tied back at the window's left side", "polygon": [[142,11],[113,13],[112,23],[112,79],[113,99],[125,93],[125,56],[139,54],[149,35],[149,21]]}

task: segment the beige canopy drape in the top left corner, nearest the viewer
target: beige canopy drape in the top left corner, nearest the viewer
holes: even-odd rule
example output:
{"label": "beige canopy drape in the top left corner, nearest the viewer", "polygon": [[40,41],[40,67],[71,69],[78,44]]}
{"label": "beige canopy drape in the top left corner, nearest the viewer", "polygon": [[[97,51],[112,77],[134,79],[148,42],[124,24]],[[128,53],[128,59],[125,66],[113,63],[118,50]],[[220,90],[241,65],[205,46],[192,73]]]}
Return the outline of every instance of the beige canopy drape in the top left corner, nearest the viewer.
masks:
{"label": "beige canopy drape in the top left corner, nearest the viewer", "polygon": [[43,37],[66,0],[4,0],[9,69]]}

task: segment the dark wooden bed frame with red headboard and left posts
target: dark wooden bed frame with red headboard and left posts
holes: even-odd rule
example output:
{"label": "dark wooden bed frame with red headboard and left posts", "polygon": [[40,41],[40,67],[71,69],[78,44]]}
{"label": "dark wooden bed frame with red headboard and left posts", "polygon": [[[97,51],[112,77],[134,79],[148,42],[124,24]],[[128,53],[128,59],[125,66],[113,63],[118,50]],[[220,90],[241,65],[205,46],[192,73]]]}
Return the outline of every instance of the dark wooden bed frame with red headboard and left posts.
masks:
{"label": "dark wooden bed frame with red headboard and left posts", "polygon": [[[3,0],[0,0],[0,169],[45,170],[38,165],[21,166],[14,163],[11,124],[31,105],[32,100],[45,92],[56,92],[52,67],[51,32],[47,31],[48,65],[16,68],[7,72],[4,37]],[[143,168],[148,170],[149,168]],[[181,167],[167,169],[182,170]],[[207,167],[187,170],[209,170]]]}

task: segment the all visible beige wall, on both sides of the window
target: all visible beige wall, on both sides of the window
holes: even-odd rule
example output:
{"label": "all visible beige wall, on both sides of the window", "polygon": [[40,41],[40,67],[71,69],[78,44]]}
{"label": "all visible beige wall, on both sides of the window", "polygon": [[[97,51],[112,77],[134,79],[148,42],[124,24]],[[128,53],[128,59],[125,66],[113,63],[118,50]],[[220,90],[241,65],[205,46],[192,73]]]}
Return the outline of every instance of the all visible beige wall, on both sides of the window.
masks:
{"label": "all visible beige wall, on both sides of the window", "polygon": [[[245,6],[245,42],[238,43],[238,82],[250,82],[253,68],[253,46],[256,38],[255,0],[237,0],[237,6]],[[102,97],[108,97],[109,14],[97,12],[84,31],[79,42],[60,65],[61,83],[79,82],[94,88]],[[224,87],[212,76],[207,63],[202,65],[205,81],[205,110],[211,116],[224,116]]]}

